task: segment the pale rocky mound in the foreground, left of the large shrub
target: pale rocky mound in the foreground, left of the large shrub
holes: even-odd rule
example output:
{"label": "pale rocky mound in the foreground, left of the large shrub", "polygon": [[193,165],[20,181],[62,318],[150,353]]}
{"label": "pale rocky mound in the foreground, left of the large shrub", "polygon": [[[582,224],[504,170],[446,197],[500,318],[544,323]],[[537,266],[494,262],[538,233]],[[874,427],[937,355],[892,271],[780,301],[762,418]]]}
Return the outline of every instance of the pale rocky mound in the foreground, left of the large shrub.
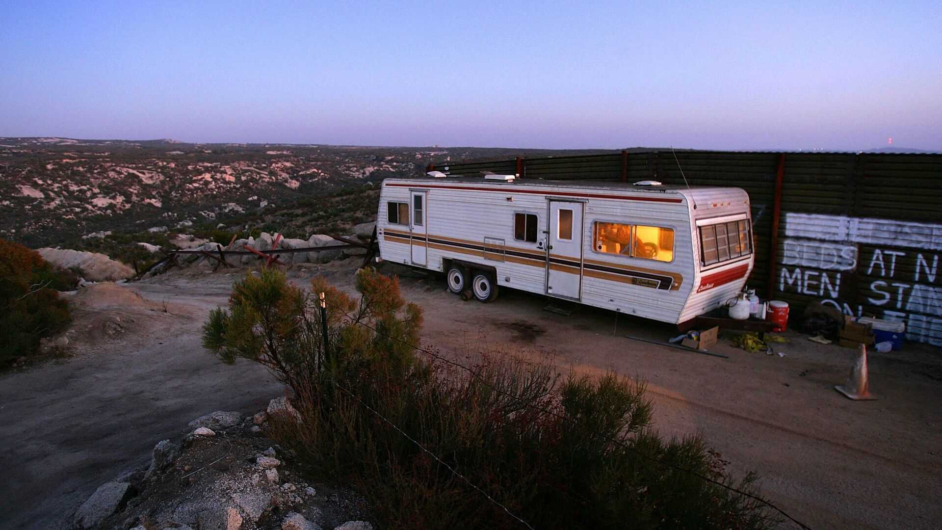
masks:
{"label": "pale rocky mound in the foreground, left of the large shrub", "polygon": [[[284,398],[283,398],[284,399]],[[289,414],[282,407],[276,414]],[[296,411],[297,412],[297,411]],[[149,466],[122,474],[97,489],[75,513],[81,530],[324,530],[364,519],[363,501],[345,489],[307,484],[291,451],[254,424],[217,411],[189,422],[180,441],[161,440]],[[265,420],[261,422],[267,424]],[[199,436],[219,429],[215,436]]]}

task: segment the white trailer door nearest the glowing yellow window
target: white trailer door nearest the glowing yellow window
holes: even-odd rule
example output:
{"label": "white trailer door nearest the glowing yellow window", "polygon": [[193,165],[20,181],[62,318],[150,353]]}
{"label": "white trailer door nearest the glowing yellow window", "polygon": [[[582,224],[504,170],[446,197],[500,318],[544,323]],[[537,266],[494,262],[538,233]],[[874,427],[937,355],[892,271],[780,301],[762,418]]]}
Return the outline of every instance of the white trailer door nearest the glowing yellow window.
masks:
{"label": "white trailer door nearest the glowing yellow window", "polygon": [[549,201],[546,294],[578,300],[582,290],[582,203]]}

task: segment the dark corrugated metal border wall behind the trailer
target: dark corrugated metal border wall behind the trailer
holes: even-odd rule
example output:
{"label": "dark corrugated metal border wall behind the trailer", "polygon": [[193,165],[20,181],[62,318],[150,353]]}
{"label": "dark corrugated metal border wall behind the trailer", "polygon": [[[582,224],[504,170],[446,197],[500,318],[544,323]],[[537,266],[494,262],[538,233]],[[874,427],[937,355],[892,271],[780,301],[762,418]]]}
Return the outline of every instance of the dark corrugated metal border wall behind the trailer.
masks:
{"label": "dark corrugated metal border wall behind the trailer", "polygon": [[908,339],[942,346],[942,155],[625,151],[435,169],[683,185],[678,162],[691,186],[749,192],[756,240],[749,283],[764,297],[788,301],[792,315],[822,301],[900,320]]}

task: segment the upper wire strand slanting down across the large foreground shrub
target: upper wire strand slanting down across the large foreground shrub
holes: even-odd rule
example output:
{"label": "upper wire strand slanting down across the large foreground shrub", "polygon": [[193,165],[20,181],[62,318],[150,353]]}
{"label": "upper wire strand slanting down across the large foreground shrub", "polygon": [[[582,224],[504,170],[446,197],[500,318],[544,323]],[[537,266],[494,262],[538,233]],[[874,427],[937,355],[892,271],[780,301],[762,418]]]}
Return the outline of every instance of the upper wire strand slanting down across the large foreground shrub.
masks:
{"label": "upper wire strand slanting down across the large foreground shrub", "polygon": [[[427,350],[427,349],[425,349],[425,348],[423,348],[423,347],[421,347],[421,346],[417,346],[417,345],[415,345],[415,344],[410,344],[409,342],[407,342],[407,341],[405,341],[405,340],[401,340],[401,339],[399,339],[398,337],[393,337],[393,336],[389,335],[388,333],[383,333],[382,331],[380,331],[380,330],[376,329],[375,327],[373,327],[373,326],[371,326],[371,325],[369,325],[369,324],[363,322],[362,320],[354,319],[352,316],[350,316],[349,312],[348,312],[346,309],[344,309],[342,306],[337,306],[337,305],[335,305],[335,304],[332,304],[331,302],[327,302],[326,297],[325,297],[325,299],[323,299],[322,301],[323,301],[326,305],[328,305],[328,306],[333,306],[333,307],[336,307],[337,309],[339,309],[340,312],[344,313],[344,315],[349,319],[349,321],[350,321],[351,323],[360,324],[360,325],[364,326],[365,328],[372,330],[374,333],[377,333],[377,334],[381,335],[382,337],[384,337],[384,338],[386,338],[386,339],[395,340],[395,341],[397,341],[397,342],[399,342],[399,343],[401,343],[401,344],[403,344],[403,345],[405,345],[405,346],[408,346],[408,347],[410,347],[410,348],[413,348],[415,351],[421,352],[421,353],[423,353],[423,354],[425,354],[425,355],[427,355],[427,356],[431,356],[431,357],[436,358],[436,359],[438,359],[438,360],[440,360],[440,361],[442,361],[442,362],[445,362],[445,363],[447,363],[447,364],[450,364],[450,365],[452,365],[452,366],[455,366],[455,367],[457,367],[457,368],[460,368],[460,369],[464,370],[464,371],[467,372],[467,373],[471,373],[471,374],[472,374],[476,379],[478,379],[479,382],[480,382],[481,384],[483,384],[485,387],[487,387],[487,388],[489,388],[489,389],[492,389],[492,390],[494,390],[494,391],[497,392],[497,393],[503,394],[503,395],[505,395],[505,396],[507,396],[507,397],[509,397],[509,398],[511,398],[511,399],[514,399],[514,400],[517,400],[517,401],[522,401],[519,396],[514,396],[513,394],[511,394],[511,393],[509,393],[509,392],[507,392],[507,391],[505,391],[505,390],[498,389],[498,388],[496,388],[495,386],[491,385],[480,373],[476,372],[474,369],[472,369],[472,368],[470,368],[470,367],[467,367],[467,366],[464,366],[462,363],[457,362],[457,361],[454,361],[454,360],[451,360],[451,359],[449,359],[449,358],[447,358],[447,357],[440,356],[440,355],[438,355],[438,354],[436,354],[436,353],[434,353],[434,352],[431,352],[430,350]],[[351,395],[352,395],[352,394],[351,394]],[[773,504],[771,504],[771,502],[769,502],[769,501],[767,501],[767,500],[765,500],[765,499],[763,499],[763,498],[761,498],[761,497],[759,497],[759,496],[757,496],[757,495],[753,495],[752,493],[749,493],[748,491],[743,491],[743,490],[741,490],[741,489],[734,488],[734,487],[729,486],[729,485],[727,485],[727,484],[723,484],[723,482],[720,482],[719,480],[710,478],[710,477],[708,477],[707,475],[705,475],[705,474],[703,474],[703,473],[695,472],[695,471],[693,471],[693,470],[689,470],[689,469],[686,469],[686,468],[682,468],[682,467],[680,467],[680,466],[678,466],[678,465],[676,465],[676,464],[672,464],[672,463],[670,463],[670,462],[665,462],[665,461],[659,459],[659,458],[656,457],[656,456],[645,455],[645,454],[642,453],[641,451],[639,451],[639,450],[637,450],[637,449],[635,449],[635,448],[633,448],[633,447],[630,447],[630,446],[626,445],[625,442],[622,441],[622,440],[620,440],[620,439],[615,439],[615,438],[609,437],[608,435],[604,435],[603,433],[600,433],[600,432],[598,432],[598,431],[592,429],[591,427],[589,427],[589,426],[587,426],[587,425],[584,425],[584,424],[582,424],[582,423],[580,423],[580,422],[577,422],[576,420],[573,420],[572,418],[569,418],[569,417],[567,417],[567,416],[564,416],[564,415],[562,415],[562,414],[560,414],[560,413],[558,413],[558,412],[554,412],[554,411],[549,410],[549,409],[547,409],[547,408],[544,408],[544,407],[542,407],[542,406],[533,405],[532,403],[528,403],[528,402],[523,403],[523,405],[528,406],[529,408],[533,408],[533,409],[535,409],[535,410],[538,410],[538,411],[540,411],[540,412],[543,412],[544,414],[548,414],[548,415],[550,415],[550,416],[553,416],[553,417],[555,417],[555,418],[558,418],[558,419],[560,419],[560,420],[562,420],[562,421],[564,421],[564,422],[571,422],[571,423],[577,425],[578,427],[589,431],[589,432],[592,433],[593,435],[595,435],[595,436],[600,436],[600,437],[602,437],[602,438],[604,438],[604,439],[608,439],[609,441],[611,441],[611,442],[613,442],[613,443],[615,443],[615,444],[618,444],[618,445],[620,445],[621,447],[625,448],[625,450],[627,450],[627,451],[629,451],[629,452],[631,452],[631,453],[633,453],[633,454],[635,454],[635,455],[639,455],[639,456],[641,456],[642,458],[644,458],[644,459],[646,459],[646,460],[648,460],[648,461],[655,462],[655,463],[657,463],[657,464],[659,464],[659,465],[661,465],[661,466],[668,467],[668,468],[674,469],[674,470],[679,471],[679,472],[686,472],[686,473],[688,473],[688,474],[690,474],[690,475],[692,475],[692,476],[695,476],[695,477],[697,477],[697,478],[699,478],[699,479],[701,479],[701,480],[705,480],[705,481],[707,481],[707,482],[710,483],[710,484],[713,484],[713,485],[715,485],[715,486],[719,486],[719,487],[721,487],[721,488],[723,488],[723,489],[728,489],[729,491],[733,491],[734,493],[737,493],[737,494],[742,495],[742,496],[744,496],[744,497],[748,497],[748,498],[750,498],[750,499],[753,499],[754,501],[757,501],[757,502],[759,502],[759,503],[762,503],[763,505],[768,505],[768,506],[771,507],[773,510],[775,510],[776,512],[778,512],[778,513],[780,513],[781,515],[783,515],[784,517],[786,517],[789,521],[794,522],[795,524],[797,524],[797,525],[798,525],[800,528],[802,528],[803,530],[811,530],[811,527],[810,527],[810,526],[804,524],[804,522],[798,521],[797,519],[795,519],[794,517],[792,517],[791,515],[789,515],[788,512],[786,512],[786,511],[783,510],[782,508],[780,508],[780,507],[778,507],[778,506],[776,506],[776,505],[773,505]],[[392,423],[390,423],[390,424],[392,424]],[[395,425],[393,425],[393,426],[395,427]],[[398,427],[397,427],[397,429],[398,429]],[[400,431],[400,432],[401,432],[401,431]],[[403,433],[403,434],[405,434],[405,433]],[[443,463],[444,463],[444,462],[443,462]],[[457,474],[457,473],[456,473],[456,474]],[[465,479],[465,480],[466,480],[466,479]],[[469,483],[469,484],[470,484],[470,483]],[[483,492],[483,491],[482,491],[482,492]],[[485,493],[485,495],[486,495],[486,493]],[[488,498],[490,498],[490,497],[488,497]],[[506,508],[505,508],[505,509],[506,509]],[[508,513],[510,513],[510,512],[508,512]],[[528,525],[528,526],[529,526],[529,525]]]}

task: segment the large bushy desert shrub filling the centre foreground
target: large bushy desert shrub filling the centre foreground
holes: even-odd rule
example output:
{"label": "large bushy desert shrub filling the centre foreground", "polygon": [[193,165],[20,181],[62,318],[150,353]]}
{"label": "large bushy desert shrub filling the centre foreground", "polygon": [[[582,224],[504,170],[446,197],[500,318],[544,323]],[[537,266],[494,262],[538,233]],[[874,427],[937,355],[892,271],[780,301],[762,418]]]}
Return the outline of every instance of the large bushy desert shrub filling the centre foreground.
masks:
{"label": "large bushy desert shrub filling the centre foreground", "polygon": [[223,360],[294,359],[272,367],[303,421],[273,419],[273,436],[357,485],[382,527],[523,527],[472,484],[537,528],[773,523],[760,503],[690,473],[734,483],[703,439],[651,430],[642,383],[560,377],[505,352],[481,354],[473,372],[417,356],[421,310],[397,281],[366,270],[356,289],[359,300],[313,281],[330,303],[326,350],[316,301],[274,271],[237,283],[203,340]]}

